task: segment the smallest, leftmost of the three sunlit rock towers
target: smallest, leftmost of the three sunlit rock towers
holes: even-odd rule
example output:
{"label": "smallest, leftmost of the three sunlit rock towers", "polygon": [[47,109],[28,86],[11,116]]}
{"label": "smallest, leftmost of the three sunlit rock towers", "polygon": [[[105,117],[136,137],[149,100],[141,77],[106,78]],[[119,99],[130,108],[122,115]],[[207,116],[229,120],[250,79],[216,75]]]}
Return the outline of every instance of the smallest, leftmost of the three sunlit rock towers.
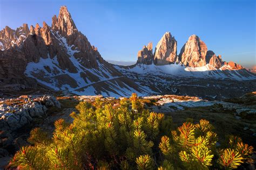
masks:
{"label": "smallest, leftmost of the three sunlit rock towers", "polygon": [[147,46],[144,45],[143,49],[138,52],[137,63],[151,65],[153,61],[152,42]]}

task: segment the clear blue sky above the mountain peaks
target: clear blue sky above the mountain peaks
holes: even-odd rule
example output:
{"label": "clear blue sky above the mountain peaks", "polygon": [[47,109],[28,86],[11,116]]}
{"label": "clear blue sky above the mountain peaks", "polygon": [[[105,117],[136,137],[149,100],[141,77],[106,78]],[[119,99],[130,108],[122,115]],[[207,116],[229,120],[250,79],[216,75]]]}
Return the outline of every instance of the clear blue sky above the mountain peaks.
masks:
{"label": "clear blue sky above the mountain peaks", "polygon": [[225,61],[256,65],[255,0],[196,1],[12,1],[0,0],[0,29],[43,21],[51,25],[66,5],[78,28],[104,59],[136,61],[144,44],[156,46],[167,31],[178,41],[178,54],[191,34]]}

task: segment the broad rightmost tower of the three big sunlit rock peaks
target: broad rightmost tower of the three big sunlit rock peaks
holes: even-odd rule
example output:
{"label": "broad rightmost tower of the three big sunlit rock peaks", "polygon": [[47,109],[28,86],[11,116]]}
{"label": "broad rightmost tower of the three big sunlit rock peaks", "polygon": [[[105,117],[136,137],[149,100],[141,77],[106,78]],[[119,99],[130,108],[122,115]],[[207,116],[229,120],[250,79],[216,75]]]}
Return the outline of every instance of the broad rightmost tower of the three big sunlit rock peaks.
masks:
{"label": "broad rightmost tower of the three big sunlit rock peaks", "polygon": [[196,35],[190,36],[181,48],[179,60],[185,66],[201,67],[206,65],[206,44]]}

